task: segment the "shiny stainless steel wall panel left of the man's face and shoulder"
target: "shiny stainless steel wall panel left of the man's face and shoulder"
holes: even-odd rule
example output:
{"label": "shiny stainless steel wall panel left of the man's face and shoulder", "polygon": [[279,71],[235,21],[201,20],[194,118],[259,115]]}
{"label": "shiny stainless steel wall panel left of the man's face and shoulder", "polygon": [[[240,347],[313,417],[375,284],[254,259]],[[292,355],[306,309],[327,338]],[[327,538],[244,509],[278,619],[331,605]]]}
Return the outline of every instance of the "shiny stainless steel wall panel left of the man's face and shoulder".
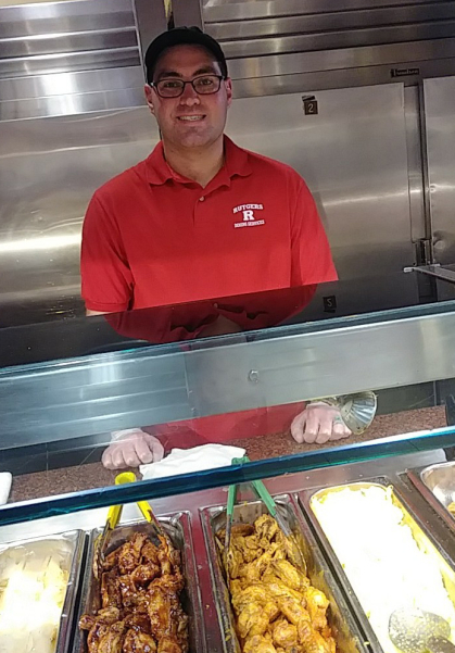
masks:
{"label": "shiny stainless steel wall panel left of the man's face and shoulder", "polygon": [[78,294],[91,193],[144,159],[157,137],[146,106],[0,122],[0,305],[34,298],[46,313],[58,310],[59,293]]}

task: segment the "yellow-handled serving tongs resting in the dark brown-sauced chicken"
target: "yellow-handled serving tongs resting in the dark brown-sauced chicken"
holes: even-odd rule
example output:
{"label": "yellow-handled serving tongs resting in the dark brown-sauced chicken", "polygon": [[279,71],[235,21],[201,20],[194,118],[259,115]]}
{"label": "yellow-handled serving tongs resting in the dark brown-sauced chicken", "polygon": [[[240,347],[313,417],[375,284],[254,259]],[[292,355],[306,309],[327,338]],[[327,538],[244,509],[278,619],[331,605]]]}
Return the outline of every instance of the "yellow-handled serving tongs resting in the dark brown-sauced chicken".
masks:
{"label": "yellow-handled serving tongs resting in the dark brown-sauced chicken", "polygon": [[[135,482],[136,476],[132,472],[123,472],[115,477],[115,485],[123,486],[125,484]],[[172,549],[170,540],[167,533],[163,530],[160,522],[156,519],[152,507],[148,501],[137,501],[136,502],[143,517],[149,522],[149,524],[153,524],[156,529],[159,536],[165,539],[167,545]],[[103,568],[103,563],[105,560],[105,551],[109,544],[110,537],[114,528],[118,525],[121,520],[123,511],[123,504],[121,505],[111,505],[108,512],[108,518],[104,524],[104,528],[101,535],[98,536],[94,542],[94,555],[93,555],[93,575],[97,580],[101,577],[101,572]]]}

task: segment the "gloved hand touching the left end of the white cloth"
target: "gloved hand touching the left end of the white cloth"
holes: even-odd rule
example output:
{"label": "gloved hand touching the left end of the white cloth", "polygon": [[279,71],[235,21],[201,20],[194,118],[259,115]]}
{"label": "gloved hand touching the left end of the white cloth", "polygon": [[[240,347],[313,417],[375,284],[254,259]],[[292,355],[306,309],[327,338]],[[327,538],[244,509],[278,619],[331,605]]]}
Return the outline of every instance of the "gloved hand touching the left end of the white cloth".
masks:
{"label": "gloved hand touching the left end of the white cloth", "polygon": [[147,463],[157,463],[164,455],[164,449],[157,438],[149,436],[140,428],[112,434],[113,442],[102,455],[108,469],[139,467]]}

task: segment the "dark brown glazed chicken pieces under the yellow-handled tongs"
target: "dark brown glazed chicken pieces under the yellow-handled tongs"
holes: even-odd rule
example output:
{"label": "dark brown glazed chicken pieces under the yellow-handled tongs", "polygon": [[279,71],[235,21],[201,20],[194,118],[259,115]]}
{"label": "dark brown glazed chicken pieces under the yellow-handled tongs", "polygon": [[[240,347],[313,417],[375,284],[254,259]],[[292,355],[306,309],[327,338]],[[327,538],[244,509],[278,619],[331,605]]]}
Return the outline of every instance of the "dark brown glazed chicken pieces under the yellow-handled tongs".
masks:
{"label": "dark brown glazed chicken pieces under the yellow-handled tongs", "polygon": [[135,532],[104,560],[96,615],[84,615],[88,653],[187,653],[180,552]]}

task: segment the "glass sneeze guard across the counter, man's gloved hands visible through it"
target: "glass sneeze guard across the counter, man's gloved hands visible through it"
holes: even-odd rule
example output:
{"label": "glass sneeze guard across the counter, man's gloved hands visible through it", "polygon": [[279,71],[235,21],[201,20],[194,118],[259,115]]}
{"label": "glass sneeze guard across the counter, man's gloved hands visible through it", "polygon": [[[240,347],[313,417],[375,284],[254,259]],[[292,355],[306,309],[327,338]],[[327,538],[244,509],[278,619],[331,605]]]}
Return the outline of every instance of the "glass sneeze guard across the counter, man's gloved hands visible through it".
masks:
{"label": "glass sneeze guard across the counter, man's gloved hands visible through it", "polygon": [[[420,277],[403,276],[416,290]],[[340,304],[343,292],[340,282],[2,329],[3,494],[26,505],[0,523],[450,447],[454,302],[413,305],[405,293],[367,313],[375,299]],[[224,310],[241,330],[194,338]],[[222,469],[244,454],[251,464]],[[123,468],[143,488],[98,491]],[[48,497],[59,499],[28,504]]]}

